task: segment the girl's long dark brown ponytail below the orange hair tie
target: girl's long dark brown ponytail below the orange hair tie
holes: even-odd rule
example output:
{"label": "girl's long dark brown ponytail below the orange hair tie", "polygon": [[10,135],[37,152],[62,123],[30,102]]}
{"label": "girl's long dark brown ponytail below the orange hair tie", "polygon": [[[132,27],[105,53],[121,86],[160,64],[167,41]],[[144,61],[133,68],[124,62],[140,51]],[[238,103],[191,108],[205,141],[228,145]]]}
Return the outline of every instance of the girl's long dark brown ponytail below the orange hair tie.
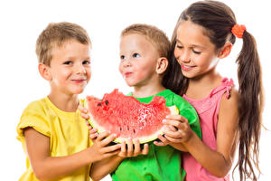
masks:
{"label": "girl's long dark brown ponytail below the orange hair tie", "polygon": [[261,113],[263,110],[263,90],[261,67],[254,37],[245,31],[243,46],[238,55],[238,167],[240,180],[257,180],[253,165],[258,167],[259,138],[261,133]]}

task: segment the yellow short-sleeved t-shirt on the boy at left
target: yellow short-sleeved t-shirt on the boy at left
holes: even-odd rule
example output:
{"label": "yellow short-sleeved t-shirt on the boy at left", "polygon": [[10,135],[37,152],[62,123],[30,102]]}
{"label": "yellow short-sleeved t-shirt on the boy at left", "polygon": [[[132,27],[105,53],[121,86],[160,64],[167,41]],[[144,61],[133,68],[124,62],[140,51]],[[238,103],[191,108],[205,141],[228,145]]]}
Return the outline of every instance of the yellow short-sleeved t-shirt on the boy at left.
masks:
{"label": "yellow short-sleeved t-shirt on the boy at left", "polygon": [[[22,142],[25,152],[23,129],[31,127],[50,138],[51,157],[68,156],[91,146],[89,128],[86,121],[76,112],[59,110],[46,97],[30,103],[23,111],[20,123],[17,126],[17,138]],[[29,157],[26,158],[27,170],[20,181],[37,181],[30,165]],[[68,176],[61,176],[53,180],[59,181],[85,181],[89,180],[89,167],[82,167]]]}

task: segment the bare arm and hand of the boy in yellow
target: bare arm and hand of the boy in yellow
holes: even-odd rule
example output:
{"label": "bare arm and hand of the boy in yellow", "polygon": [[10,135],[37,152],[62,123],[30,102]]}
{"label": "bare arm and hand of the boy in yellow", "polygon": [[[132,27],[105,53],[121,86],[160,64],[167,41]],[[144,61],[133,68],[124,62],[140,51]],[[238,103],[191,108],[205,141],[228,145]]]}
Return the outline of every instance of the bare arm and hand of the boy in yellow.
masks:
{"label": "bare arm and hand of the boy in yellow", "polygon": [[24,129],[25,146],[33,167],[33,172],[40,180],[48,180],[58,176],[65,176],[71,172],[86,167],[90,163],[106,157],[116,155],[119,145],[105,147],[115,137],[106,134],[100,138],[98,144],[78,153],[65,157],[50,156],[50,138],[32,128]]}

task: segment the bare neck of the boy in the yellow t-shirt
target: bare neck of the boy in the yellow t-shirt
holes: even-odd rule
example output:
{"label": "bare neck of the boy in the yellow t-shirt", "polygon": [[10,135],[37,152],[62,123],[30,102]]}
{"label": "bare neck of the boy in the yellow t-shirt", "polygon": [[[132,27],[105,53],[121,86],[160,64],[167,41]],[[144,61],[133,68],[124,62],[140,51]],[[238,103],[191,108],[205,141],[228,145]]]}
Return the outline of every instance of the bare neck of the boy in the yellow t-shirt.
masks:
{"label": "bare neck of the boy in the yellow t-shirt", "polygon": [[48,98],[58,109],[66,112],[75,112],[79,106],[77,94],[67,95],[51,91]]}

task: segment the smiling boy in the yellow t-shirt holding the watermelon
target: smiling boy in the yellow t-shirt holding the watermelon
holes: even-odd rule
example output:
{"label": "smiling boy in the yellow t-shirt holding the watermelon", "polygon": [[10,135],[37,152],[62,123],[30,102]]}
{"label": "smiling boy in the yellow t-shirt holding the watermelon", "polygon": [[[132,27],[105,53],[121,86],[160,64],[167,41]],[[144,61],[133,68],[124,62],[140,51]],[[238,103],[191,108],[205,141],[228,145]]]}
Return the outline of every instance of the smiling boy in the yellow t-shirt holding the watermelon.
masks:
{"label": "smiling boy in the yellow t-shirt holding the watermelon", "polygon": [[106,132],[91,146],[89,128],[77,111],[78,94],[90,79],[90,46],[77,24],[49,24],[39,36],[39,71],[51,92],[28,105],[17,127],[27,152],[20,180],[89,180],[91,163],[119,152],[120,145],[106,147],[116,138]]}

